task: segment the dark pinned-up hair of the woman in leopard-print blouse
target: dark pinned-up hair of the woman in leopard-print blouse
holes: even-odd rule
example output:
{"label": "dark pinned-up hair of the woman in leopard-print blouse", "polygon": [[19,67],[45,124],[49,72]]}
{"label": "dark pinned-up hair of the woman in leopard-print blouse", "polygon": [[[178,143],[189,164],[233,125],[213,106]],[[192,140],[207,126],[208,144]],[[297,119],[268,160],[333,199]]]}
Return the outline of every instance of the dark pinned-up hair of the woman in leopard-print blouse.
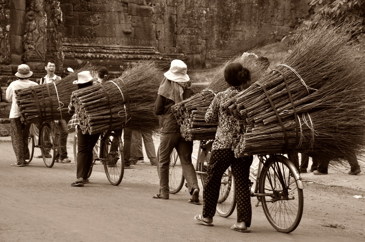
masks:
{"label": "dark pinned-up hair of the woman in leopard-print blouse", "polygon": [[224,69],[224,79],[230,86],[241,86],[251,81],[250,71],[241,63],[230,63]]}

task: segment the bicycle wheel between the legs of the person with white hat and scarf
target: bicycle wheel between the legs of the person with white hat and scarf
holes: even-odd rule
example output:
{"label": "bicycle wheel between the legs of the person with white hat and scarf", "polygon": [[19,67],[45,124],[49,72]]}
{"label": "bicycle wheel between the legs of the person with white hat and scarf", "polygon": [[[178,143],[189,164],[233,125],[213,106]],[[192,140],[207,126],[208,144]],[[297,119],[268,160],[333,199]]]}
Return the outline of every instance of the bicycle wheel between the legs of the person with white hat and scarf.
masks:
{"label": "bicycle wheel between the legs of the person with white hat and scarf", "polygon": [[181,166],[180,158],[177,155],[177,151],[174,148],[170,157],[169,167],[169,188],[171,194],[178,193],[184,185],[184,172]]}

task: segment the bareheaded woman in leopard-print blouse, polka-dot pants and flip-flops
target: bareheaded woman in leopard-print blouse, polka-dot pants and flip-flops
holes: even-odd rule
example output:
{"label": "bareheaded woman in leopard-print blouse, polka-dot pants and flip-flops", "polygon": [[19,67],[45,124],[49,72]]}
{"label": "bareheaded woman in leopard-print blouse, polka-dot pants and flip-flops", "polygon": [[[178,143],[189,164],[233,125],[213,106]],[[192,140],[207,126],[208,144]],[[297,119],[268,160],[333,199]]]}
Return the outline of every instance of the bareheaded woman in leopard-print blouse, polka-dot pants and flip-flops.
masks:
{"label": "bareheaded woman in leopard-print blouse, polka-dot pants and flip-flops", "polygon": [[205,121],[208,123],[218,121],[218,127],[207,170],[207,183],[203,191],[203,214],[196,215],[194,219],[203,225],[213,226],[213,216],[218,202],[222,175],[231,166],[235,178],[237,200],[237,223],[231,229],[249,232],[250,230],[247,229],[251,225],[249,174],[253,156],[239,158],[234,156],[232,134],[239,131],[238,120],[230,113],[225,112],[221,106],[243,90],[241,85],[246,84],[251,79],[250,71],[241,63],[231,63],[224,69],[224,79],[229,85],[228,89],[214,97],[205,114]]}

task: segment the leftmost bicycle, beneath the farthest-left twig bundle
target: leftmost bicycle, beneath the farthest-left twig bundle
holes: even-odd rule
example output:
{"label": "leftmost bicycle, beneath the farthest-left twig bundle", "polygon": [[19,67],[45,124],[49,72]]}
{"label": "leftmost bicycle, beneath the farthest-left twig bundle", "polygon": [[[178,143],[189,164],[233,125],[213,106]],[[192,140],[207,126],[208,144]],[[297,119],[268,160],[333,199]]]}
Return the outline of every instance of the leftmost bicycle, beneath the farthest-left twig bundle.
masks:
{"label": "leftmost bicycle, beneath the farthest-left twig bundle", "polygon": [[[35,124],[32,124],[35,125]],[[46,167],[53,167],[56,151],[57,142],[55,138],[56,130],[59,130],[58,121],[42,122],[38,129],[38,140],[36,140],[36,129],[34,126],[30,129],[28,135],[28,148],[30,148],[30,160],[32,160],[34,154],[34,147],[41,148],[42,159]],[[31,143],[31,144],[30,144]]]}

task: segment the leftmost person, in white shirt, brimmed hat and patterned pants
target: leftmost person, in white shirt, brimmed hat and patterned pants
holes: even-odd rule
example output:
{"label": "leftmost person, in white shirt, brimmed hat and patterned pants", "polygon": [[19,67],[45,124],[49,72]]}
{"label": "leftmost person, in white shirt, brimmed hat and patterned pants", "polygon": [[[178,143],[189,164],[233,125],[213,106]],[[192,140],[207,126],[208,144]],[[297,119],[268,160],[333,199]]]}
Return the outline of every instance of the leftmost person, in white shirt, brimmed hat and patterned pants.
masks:
{"label": "leftmost person, in white shirt, brimmed hat and patterned pants", "polygon": [[5,93],[7,101],[11,102],[9,115],[10,136],[16,156],[16,163],[11,165],[17,167],[24,167],[24,165],[29,165],[28,134],[30,124],[23,124],[20,119],[19,106],[16,104],[15,90],[38,85],[37,82],[32,82],[28,80],[28,78],[32,75],[33,72],[30,71],[29,66],[25,64],[19,65],[18,72],[15,73],[15,76],[18,77],[19,80],[10,83]]}

